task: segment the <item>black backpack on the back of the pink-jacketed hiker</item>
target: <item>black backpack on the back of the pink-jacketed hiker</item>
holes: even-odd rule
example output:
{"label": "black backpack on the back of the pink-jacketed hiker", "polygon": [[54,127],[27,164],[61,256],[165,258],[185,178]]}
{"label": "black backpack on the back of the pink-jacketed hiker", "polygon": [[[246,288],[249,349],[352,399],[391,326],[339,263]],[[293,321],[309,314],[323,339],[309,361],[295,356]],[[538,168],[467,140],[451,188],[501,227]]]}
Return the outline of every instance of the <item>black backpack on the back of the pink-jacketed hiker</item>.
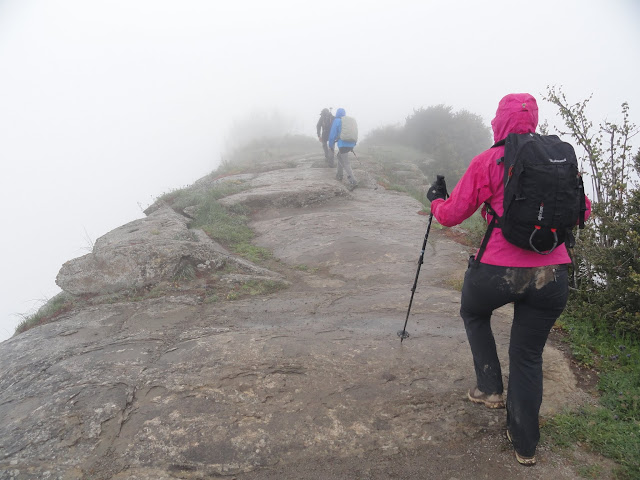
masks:
{"label": "black backpack on the back of the pink-jacketed hiker", "polygon": [[510,243],[548,255],[563,242],[573,247],[573,228],[584,228],[586,202],[573,147],[556,135],[510,133],[504,145],[504,214],[487,204],[492,220],[478,258],[495,226]]}

